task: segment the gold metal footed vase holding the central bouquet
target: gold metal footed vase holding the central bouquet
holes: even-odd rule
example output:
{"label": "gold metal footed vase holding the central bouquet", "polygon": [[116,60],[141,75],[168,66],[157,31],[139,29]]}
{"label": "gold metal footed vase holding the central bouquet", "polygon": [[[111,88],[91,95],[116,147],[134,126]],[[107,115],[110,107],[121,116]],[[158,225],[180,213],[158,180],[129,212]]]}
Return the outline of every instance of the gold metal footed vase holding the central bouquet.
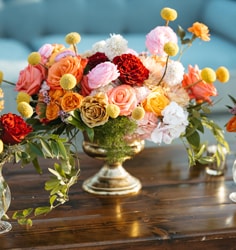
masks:
{"label": "gold metal footed vase holding the central bouquet", "polygon": [[141,189],[140,181],[128,173],[122,164],[143,150],[144,141],[130,143],[129,153],[115,161],[108,160],[107,150],[96,143],[84,140],[82,147],[88,156],[104,161],[102,168],[84,181],[85,191],[101,196],[121,196],[136,194]]}

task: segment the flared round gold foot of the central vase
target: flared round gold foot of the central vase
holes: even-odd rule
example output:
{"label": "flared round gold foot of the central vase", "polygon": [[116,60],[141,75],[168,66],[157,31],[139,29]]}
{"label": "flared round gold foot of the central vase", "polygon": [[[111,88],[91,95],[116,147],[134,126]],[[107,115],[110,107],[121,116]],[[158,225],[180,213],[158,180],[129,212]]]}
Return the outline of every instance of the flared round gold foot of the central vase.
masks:
{"label": "flared round gold foot of the central vase", "polygon": [[122,196],[138,193],[142,185],[122,165],[111,168],[104,165],[100,171],[83,183],[83,189],[102,196]]}

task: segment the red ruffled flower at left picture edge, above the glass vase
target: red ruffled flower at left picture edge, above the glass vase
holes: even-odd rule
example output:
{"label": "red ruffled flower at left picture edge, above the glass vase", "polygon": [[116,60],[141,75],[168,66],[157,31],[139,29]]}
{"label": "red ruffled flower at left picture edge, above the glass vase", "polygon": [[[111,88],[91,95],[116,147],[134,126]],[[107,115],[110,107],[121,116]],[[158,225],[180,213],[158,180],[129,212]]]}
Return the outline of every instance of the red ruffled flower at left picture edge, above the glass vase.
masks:
{"label": "red ruffled flower at left picture edge, above the glass vase", "polygon": [[21,116],[8,113],[0,117],[0,139],[5,144],[20,143],[32,131],[33,128]]}

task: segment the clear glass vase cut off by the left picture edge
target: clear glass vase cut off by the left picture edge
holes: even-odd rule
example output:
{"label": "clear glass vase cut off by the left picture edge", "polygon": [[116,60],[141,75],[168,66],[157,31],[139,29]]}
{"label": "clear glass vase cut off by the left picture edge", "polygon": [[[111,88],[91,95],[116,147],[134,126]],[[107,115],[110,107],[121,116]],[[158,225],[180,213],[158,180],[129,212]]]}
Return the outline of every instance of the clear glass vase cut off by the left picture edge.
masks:
{"label": "clear glass vase cut off by the left picture edge", "polygon": [[6,216],[6,212],[11,203],[11,192],[3,175],[2,168],[4,163],[0,163],[0,234],[11,230],[12,226],[9,222],[2,219]]}

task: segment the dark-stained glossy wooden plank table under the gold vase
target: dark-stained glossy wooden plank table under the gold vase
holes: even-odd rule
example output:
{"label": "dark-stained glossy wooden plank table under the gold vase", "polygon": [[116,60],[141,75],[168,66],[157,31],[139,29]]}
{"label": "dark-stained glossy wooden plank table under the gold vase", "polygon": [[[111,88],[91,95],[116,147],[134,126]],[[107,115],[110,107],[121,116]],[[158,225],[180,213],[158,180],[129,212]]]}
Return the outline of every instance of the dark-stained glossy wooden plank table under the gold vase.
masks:
{"label": "dark-stained glossy wooden plank table under the gold vase", "polygon": [[[236,204],[228,198],[236,191],[233,160],[228,157],[224,176],[211,177],[203,167],[189,169],[180,146],[145,149],[125,163],[142,190],[112,199],[82,190],[101,162],[81,153],[81,177],[70,201],[34,220],[29,230],[13,222],[13,229],[0,235],[0,249],[236,249]],[[47,201],[46,175],[38,176],[31,166],[4,172],[12,191],[9,215]]]}

